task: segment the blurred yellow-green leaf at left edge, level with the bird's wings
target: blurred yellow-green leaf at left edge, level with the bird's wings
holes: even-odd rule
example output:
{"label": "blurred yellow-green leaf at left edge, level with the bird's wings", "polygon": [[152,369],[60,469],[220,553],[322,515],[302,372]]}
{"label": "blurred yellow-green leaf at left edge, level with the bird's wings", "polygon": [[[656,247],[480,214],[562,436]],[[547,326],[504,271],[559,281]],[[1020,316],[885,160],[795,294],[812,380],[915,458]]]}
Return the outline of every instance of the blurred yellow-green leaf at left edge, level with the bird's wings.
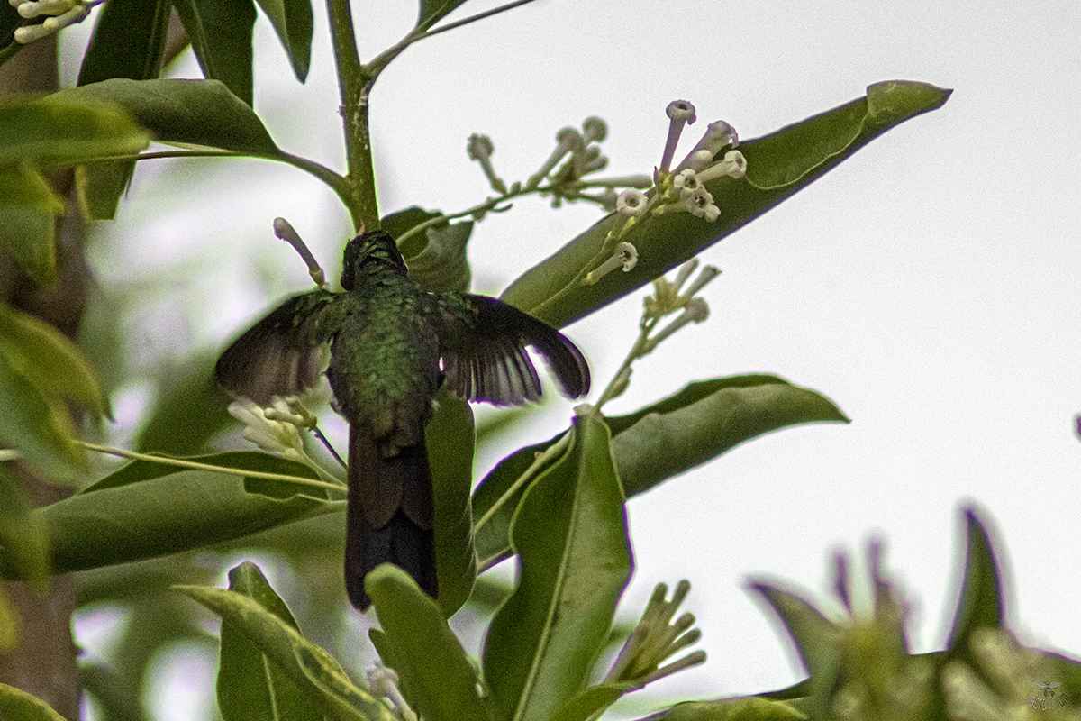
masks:
{"label": "blurred yellow-green leaf at left edge, level with the bird's wings", "polygon": [[112,417],[90,361],[53,325],[0,303],[0,352],[38,388]]}

